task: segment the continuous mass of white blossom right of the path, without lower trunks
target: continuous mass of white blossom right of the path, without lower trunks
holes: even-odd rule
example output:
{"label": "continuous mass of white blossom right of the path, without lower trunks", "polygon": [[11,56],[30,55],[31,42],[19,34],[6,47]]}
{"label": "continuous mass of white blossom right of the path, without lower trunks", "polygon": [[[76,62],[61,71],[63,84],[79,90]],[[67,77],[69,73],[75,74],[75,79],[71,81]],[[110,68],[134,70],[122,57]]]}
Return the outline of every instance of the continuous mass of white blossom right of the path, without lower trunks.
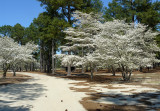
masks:
{"label": "continuous mass of white blossom right of the path, without lower trunks", "polygon": [[122,20],[103,23],[92,14],[78,11],[73,16],[77,20],[75,27],[65,31],[68,43],[61,47],[72,55],[65,55],[63,64],[112,66],[128,73],[159,62],[155,52],[160,48],[154,40],[158,33],[146,30],[145,25]]}

